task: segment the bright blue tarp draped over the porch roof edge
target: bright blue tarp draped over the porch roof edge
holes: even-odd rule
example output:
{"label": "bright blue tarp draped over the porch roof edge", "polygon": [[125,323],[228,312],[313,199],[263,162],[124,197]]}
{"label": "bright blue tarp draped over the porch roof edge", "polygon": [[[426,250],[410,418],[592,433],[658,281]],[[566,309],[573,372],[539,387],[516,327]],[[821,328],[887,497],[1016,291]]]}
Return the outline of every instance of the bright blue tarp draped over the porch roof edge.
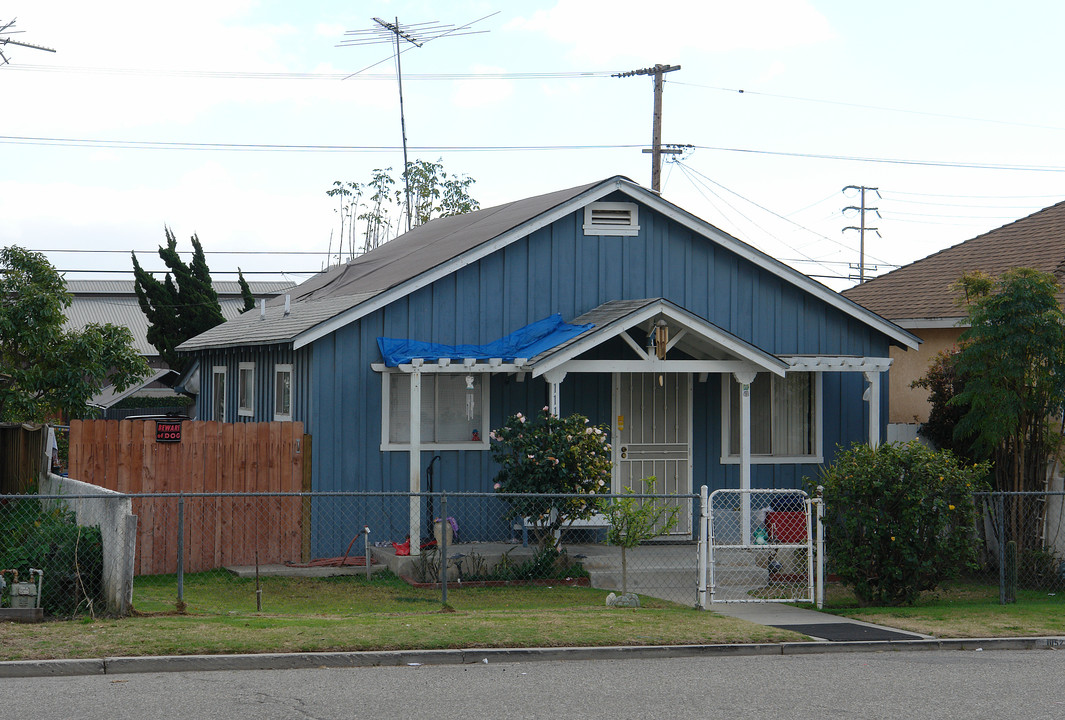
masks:
{"label": "bright blue tarp draped over the porch roof edge", "polygon": [[534,358],[592,327],[594,325],[571,325],[564,322],[560,314],[555,313],[487,345],[442,345],[396,338],[378,338],[377,345],[381,348],[384,364],[389,367],[408,363],[415,358],[422,360],[501,358],[505,362],[510,362],[515,358]]}

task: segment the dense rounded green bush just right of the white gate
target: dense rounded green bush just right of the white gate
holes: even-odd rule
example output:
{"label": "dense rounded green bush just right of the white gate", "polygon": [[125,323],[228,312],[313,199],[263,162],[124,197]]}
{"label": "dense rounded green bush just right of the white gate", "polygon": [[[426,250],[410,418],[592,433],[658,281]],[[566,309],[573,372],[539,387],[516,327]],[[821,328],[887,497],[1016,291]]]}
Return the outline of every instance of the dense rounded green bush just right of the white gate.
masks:
{"label": "dense rounded green bush just right of the white gate", "polygon": [[855,444],[822,472],[828,555],[863,606],[913,604],[974,567],[987,469],[913,441]]}

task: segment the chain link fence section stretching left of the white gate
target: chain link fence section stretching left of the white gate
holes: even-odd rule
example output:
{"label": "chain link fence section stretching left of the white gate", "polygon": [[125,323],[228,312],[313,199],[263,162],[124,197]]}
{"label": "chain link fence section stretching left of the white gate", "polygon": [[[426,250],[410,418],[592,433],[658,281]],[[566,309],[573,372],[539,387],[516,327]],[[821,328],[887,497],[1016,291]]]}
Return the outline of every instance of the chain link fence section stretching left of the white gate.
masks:
{"label": "chain link fence section stretching left of the white gate", "polygon": [[[692,519],[700,513],[698,495],[625,497],[679,506]],[[30,567],[43,570],[42,606],[55,617],[120,613],[121,604],[109,600],[109,585],[128,590],[136,611],[177,606],[209,613],[261,607],[264,586],[275,598],[306,595],[304,609],[290,603],[289,611],[329,612],[320,602],[329,592],[312,589],[315,583],[318,590],[351,590],[364,583],[400,582],[444,603],[448,592],[507,585],[586,586],[604,590],[604,596],[629,591],[687,606],[699,600],[698,539],[685,533],[628,549],[608,544],[609,520],[601,511],[613,500],[608,495],[150,493],[120,498],[135,519],[135,537],[115,546],[105,527],[78,519],[86,507],[113,506],[113,494],[3,496],[0,569],[18,570],[20,578]],[[286,583],[292,587],[286,589]],[[0,595],[0,606],[11,602],[10,591]],[[337,602],[343,605],[343,593]]]}

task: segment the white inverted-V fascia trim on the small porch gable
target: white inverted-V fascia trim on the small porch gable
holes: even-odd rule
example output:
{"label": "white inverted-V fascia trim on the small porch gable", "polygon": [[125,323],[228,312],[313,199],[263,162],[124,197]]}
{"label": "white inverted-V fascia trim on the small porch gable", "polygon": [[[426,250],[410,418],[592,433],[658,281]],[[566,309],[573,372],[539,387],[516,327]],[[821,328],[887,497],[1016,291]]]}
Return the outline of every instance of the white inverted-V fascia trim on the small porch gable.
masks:
{"label": "white inverted-V fascia trim on the small porch gable", "polygon": [[[601,329],[592,330],[590,334],[581,340],[568,345],[564,349],[559,350],[557,354],[545,358],[542,362],[537,363],[536,369],[532,371],[532,377],[539,377],[555,367],[559,367],[572,361],[583,353],[587,353],[591,348],[603,344],[607,340],[620,336],[628,330],[628,328],[639,325],[640,323],[651,320],[659,314],[666,315],[672,322],[684,325],[685,329],[688,331],[701,334],[722,349],[738,356],[746,364],[756,365],[766,372],[784,377],[784,372],[787,370],[787,363],[781,359],[770,355],[769,353],[759,350],[753,345],[743,343],[733,336],[726,334],[720,328],[708,325],[691,313],[686,312],[682,308],[665,300],[649,302],[644,307],[625,315],[624,317],[619,317]],[[633,362],[645,361],[637,360]]]}

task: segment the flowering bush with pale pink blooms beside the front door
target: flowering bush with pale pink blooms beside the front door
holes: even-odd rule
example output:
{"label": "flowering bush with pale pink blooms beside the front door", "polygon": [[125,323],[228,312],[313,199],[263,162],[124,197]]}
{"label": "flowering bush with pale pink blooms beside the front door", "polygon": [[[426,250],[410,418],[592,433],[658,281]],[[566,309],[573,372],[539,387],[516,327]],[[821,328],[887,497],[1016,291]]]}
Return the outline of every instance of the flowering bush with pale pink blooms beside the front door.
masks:
{"label": "flowering bush with pale pink blooms beside the front door", "polygon": [[593,516],[597,505],[592,495],[610,492],[607,431],[584,415],[556,418],[544,408],[532,420],[519,412],[489,438],[492,459],[499,465],[495,490],[530,495],[507,497],[507,502],[515,516],[532,524],[541,545],[568,523]]}

